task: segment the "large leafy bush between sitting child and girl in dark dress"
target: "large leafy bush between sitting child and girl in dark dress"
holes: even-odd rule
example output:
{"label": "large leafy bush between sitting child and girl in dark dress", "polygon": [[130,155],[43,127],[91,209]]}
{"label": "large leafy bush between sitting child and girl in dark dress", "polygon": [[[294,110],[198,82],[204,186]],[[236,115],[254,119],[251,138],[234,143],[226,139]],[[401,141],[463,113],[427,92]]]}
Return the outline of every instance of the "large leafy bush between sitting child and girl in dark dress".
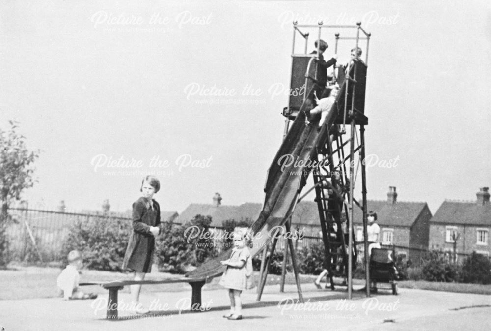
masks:
{"label": "large leafy bush between sitting child and girl in dark dress", "polygon": [[131,233],[131,222],[104,216],[78,218],[70,227],[63,244],[63,262],[73,249],[82,253],[83,264],[89,269],[121,271]]}

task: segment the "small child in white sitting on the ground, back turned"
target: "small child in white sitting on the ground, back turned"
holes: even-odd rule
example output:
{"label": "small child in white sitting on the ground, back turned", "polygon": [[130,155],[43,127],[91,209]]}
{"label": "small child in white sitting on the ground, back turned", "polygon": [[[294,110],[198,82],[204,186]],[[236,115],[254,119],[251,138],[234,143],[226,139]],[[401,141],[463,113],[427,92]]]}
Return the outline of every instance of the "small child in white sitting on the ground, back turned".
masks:
{"label": "small child in white sitting on the ground, back turned", "polygon": [[68,266],[66,266],[56,279],[58,288],[63,291],[63,300],[95,299],[97,294],[83,293],[79,289],[80,274],[82,267],[82,255],[78,250],[68,253]]}

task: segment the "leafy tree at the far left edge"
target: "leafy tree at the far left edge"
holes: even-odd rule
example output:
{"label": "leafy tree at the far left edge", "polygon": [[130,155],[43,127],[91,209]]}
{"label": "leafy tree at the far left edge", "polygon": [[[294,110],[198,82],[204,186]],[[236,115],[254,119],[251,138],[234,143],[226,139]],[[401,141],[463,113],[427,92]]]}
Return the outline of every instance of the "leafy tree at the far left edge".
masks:
{"label": "leafy tree at the far left edge", "polygon": [[10,120],[9,124],[8,131],[0,128],[0,269],[8,263],[8,207],[20,200],[23,190],[34,185],[32,163],[39,157],[39,150],[27,149],[26,137],[17,132],[17,122]]}

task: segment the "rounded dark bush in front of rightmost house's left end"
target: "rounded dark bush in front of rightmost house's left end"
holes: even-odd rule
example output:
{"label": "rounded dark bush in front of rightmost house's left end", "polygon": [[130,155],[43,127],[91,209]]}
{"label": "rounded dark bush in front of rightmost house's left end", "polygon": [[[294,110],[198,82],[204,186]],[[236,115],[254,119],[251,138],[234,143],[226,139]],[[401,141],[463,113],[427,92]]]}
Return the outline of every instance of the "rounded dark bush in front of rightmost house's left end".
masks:
{"label": "rounded dark bush in front of rightmost house's left end", "polygon": [[455,282],[459,281],[459,267],[448,262],[444,252],[430,251],[424,258],[422,275],[424,280]]}

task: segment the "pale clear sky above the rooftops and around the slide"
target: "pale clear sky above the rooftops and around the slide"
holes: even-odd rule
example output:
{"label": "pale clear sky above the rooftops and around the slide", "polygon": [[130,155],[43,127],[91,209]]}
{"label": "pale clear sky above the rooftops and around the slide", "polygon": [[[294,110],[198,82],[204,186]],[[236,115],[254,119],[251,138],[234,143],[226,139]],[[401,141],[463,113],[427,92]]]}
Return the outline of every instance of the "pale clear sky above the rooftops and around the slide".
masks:
{"label": "pale clear sky above the rooftops and around the slide", "polygon": [[[23,199],[41,209],[64,200],[68,211],[109,199],[126,211],[155,173],[162,210],[215,192],[225,205],[262,203],[297,20],[361,21],[372,34],[368,199],[396,186],[399,201],[433,213],[445,199],[475,200],[491,186],[491,4],[360,2],[1,1],[0,127],[18,121],[41,151]],[[328,56],[336,32],[353,36],[324,29]]]}

